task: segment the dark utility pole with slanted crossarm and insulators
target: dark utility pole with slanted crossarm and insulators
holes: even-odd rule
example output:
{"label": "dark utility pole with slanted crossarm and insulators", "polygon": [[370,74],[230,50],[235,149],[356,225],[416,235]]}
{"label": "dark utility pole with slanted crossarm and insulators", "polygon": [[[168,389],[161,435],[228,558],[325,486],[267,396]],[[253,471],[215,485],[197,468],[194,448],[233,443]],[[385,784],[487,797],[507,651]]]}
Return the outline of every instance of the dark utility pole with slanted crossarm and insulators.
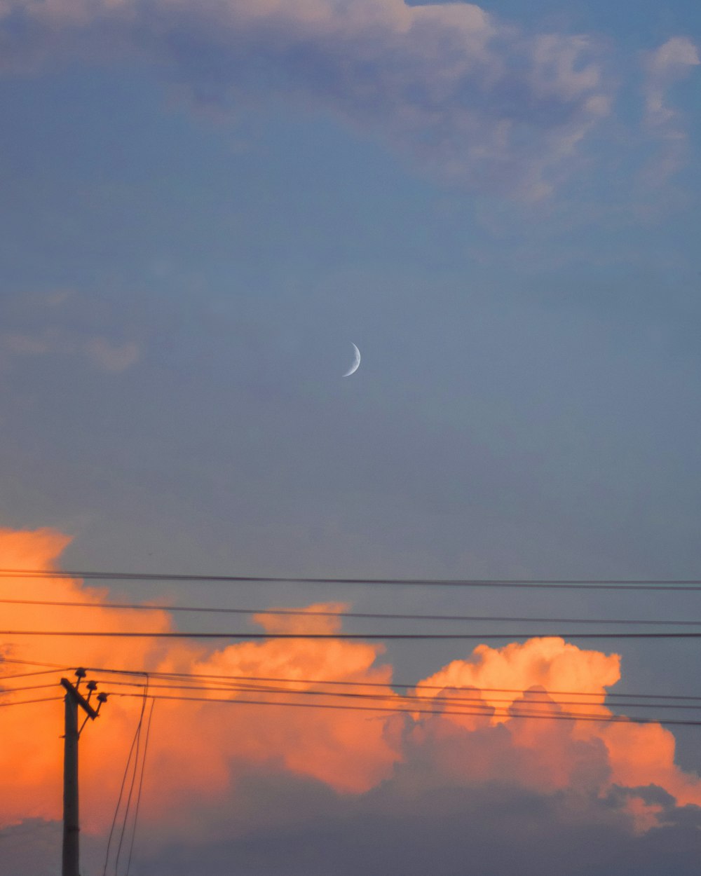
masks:
{"label": "dark utility pole with slanted crossarm and insulators", "polygon": [[[107,700],[107,694],[97,695],[97,708],[90,705],[90,697],[97,689],[97,682],[88,682],[88,698],[78,690],[81,679],[85,678],[85,669],[75,670],[78,681],[71,684],[67,678],[60,683],[66,689],[65,735],[63,737],[63,863],[61,876],[80,876],[78,869],[79,843],[78,833],[80,822],[78,818],[78,739],[88,718],[94,721],[100,707]],[[78,707],[85,712],[85,720],[78,729]]]}

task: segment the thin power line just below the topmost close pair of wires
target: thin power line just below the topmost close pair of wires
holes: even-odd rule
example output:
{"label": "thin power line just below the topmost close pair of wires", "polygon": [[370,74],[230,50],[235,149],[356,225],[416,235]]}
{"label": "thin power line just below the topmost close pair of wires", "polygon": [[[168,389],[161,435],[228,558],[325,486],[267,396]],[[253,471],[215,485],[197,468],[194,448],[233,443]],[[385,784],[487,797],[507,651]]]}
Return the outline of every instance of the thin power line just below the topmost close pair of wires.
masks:
{"label": "thin power line just below the topmost close pair of wires", "polygon": [[46,605],[61,608],[99,608],[121,611],[187,611],[209,614],[236,614],[265,616],[290,615],[298,618],[362,618],[377,620],[435,620],[468,622],[504,622],[504,623],[535,623],[535,624],[609,624],[609,625],[646,625],[646,626],[699,626],[701,620],[635,620],[633,618],[524,618],[499,617],[494,615],[456,615],[456,614],[392,614],[377,611],[310,611],[307,609],[274,609],[274,608],[226,608],[206,607],[202,605],[166,605],[143,603],[114,602],[65,602],[49,599],[0,599],[0,604],[13,605]]}

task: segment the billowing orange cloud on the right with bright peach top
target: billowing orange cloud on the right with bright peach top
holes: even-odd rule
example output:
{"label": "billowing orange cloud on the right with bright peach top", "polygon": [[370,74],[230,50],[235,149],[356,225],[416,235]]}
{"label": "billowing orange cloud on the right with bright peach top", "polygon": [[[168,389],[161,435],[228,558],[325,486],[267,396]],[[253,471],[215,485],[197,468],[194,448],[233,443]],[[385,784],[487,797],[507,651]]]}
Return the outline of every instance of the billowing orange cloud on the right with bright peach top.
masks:
{"label": "billowing orange cloud on the right with bright peach top", "polygon": [[[480,645],[470,659],[452,661],[421,682],[437,688],[445,685],[448,690],[424,688],[422,693],[458,698],[464,693],[450,687],[471,687],[474,696],[494,713],[468,719],[446,715],[438,719],[440,729],[430,733],[454,736],[444,726],[449,722],[471,730],[501,725],[502,733],[483,731],[477,759],[460,759],[456,745],[437,745],[436,758],[449,757],[444,767],[452,773],[459,771],[466,780],[515,778],[532,788],[587,787],[602,794],[613,785],[640,788],[655,784],[679,805],[701,805],[701,781],[676,766],[674,735],[661,724],[585,719],[612,716],[603,703],[606,689],[619,680],[617,654],[584,651],[559,637],[501,648]],[[575,691],[587,696],[572,696]],[[519,712],[534,711],[548,712],[551,720],[516,717]],[[563,721],[557,717],[563,712],[582,719]],[[637,825],[649,826],[655,820],[654,811],[642,802],[631,803],[628,810]]]}

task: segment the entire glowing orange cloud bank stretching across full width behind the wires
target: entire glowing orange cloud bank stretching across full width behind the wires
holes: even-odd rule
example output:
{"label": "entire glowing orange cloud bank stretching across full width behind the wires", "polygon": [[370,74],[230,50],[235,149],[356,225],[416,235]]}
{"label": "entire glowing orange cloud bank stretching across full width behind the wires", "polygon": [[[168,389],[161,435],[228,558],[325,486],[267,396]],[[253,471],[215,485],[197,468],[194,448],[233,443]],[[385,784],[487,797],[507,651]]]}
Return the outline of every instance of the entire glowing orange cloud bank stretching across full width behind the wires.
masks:
{"label": "entire glowing orange cloud bank stretching across full width behind the wires", "polygon": [[[52,530],[0,531],[2,568],[52,569],[68,541]],[[108,595],[104,588],[85,587],[72,580],[22,579],[21,586],[21,592],[36,599],[92,603]],[[17,594],[18,581],[0,579],[1,597]],[[340,625],[335,615],[343,608],[341,604],[309,606],[308,619],[280,610],[277,615],[259,616],[258,623],[266,632],[301,632],[311,626],[315,632],[333,634]],[[329,617],[312,617],[320,609],[328,611]],[[174,629],[173,618],[161,609],[139,612],[3,604],[1,611],[3,629]],[[349,811],[349,806],[367,817],[372,802],[385,793],[396,807],[405,799],[448,800],[450,793],[474,799],[489,788],[511,788],[517,798],[535,795],[547,809],[553,800],[567,801],[572,818],[586,824],[605,818],[631,836],[644,836],[676,822],[679,807],[701,805],[701,780],[676,766],[671,732],[660,724],[586,719],[612,714],[605,695],[620,679],[619,657],[582,650],[556,637],[500,648],[478,646],[418,685],[417,691],[428,697],[428,703],[414,713],[407,713],[407,704],[393,690],[392,667],[382,662],[382,647],[362,640],[261,639],[212,649],[190,640],[148,636],[5,635],[0,641],[0,666],[3,660],[17,659],[92,667],[90,676],[99,681],[101,689],[110,691],[102,717],[81,738],[83,826],[92,836],[100,836],[109,827],[138,719],[140,697],[123,695],[141,690],[118,683],[133,679],[101,674],[100,667],[209,675],[210,682],[198,682],[204,689],[188,696],[237,703],[161,700],[156,704],[141,809],[152,848],[175,843],[178,837],[189,837],[192,844],[218,843],[237,824],[242,836],[284,830],[286,818],[287,822],[290,817],[303,821],[309,816],[305,807],[318,812],[312,798],[320,794],[327,801],[319,814],[323,820],[327,809],[346,807]],[[10,667],[7,663],[4,674],[9,674]],[[14,666],[13,670],[17,671]],[[251,699],[251,692],[222,690],[216,676],[284,678],[300,691],[315,690],[315,680],[329,678],[370,683],[376,697],[372,705],[385,711],[244,705],[242,701]],[[17,683],[8,681],[7,685]],[[158,688],[162,683],[152,680],[152,692],[167,694]],[[586,706],[573,706],[571,691],[590,694]],[[6,700],[27,695],[3,696]],[[254,699],[263,696],[275,695],[252,691]],[[465,697],[471,699],[476,714],[452,714],[455,708],[451,706],[457,708]],[[339,702],[349,701],[336,699]],[[427,713],[428,706],[435,714]],[[534,709],[551,718],[519,717]],[[584,713],[582,718],[558,719],[563,711],[572,710]],[[0,826],[60,818],[60,724],[60,702],[0,710],[4,739]],[[286,816],[274,806],[253,805],[248,799],[246,788],[251,782],[265,785],[266,781],[315,790],[309,801],[302,795],[294,804],[294,814]],[[588,801],[584,814],[577,810],[577,801]],[[391,814],[388,809],[382,817]]]}

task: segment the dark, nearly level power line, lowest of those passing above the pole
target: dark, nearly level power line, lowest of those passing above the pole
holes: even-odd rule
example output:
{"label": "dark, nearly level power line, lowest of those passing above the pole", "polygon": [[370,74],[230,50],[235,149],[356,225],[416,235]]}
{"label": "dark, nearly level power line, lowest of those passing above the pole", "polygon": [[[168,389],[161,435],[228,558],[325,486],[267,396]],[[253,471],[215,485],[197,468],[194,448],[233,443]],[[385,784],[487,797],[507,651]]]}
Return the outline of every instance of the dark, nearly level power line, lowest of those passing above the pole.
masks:
{"label": "dark, nearly level power line, lowest of those passing above the pole", "polygon": [[701,632],[125,632],[124,630],[0,630],[0,636],[96,639],[701,639]]}

